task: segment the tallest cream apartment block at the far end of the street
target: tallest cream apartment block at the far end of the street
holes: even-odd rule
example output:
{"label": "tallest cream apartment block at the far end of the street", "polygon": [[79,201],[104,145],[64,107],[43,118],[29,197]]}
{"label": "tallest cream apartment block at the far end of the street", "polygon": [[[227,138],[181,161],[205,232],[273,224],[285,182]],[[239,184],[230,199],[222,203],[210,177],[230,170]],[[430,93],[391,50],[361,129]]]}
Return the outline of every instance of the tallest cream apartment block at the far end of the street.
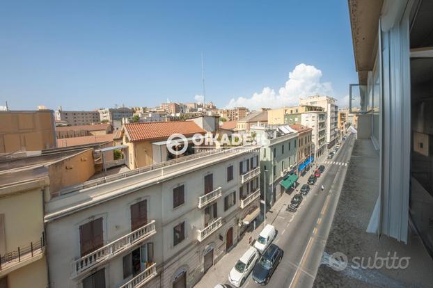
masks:
{"label": "tallest cream apartment block at the far end of the street", "polygon": [[326,142],[331,148],[337,142],[338,132],[338,106],[337,100],[329,96],[310,96],[307,99],[299,99],[301,105],[320,106],[326,112]]}

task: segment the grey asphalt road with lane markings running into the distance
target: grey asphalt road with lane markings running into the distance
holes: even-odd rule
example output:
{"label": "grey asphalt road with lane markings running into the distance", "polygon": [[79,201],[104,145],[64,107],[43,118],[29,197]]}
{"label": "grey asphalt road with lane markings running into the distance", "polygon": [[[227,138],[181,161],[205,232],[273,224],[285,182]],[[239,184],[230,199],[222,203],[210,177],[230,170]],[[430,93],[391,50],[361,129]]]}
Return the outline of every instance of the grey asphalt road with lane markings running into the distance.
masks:
{"label": "grey asphalt road with lane markings running into the distance", "polygon": [[[267,287],[313,286],[343,187],[348,167],[345,163],[350,159],[353,145],[354,136],[348,136],[338,153],[328,160],[340,165],[324,163],[324,173],[311,186],[312,189],[295,213],[286,211],[286,206],[281,211],[274,211],[278,213],[274,223],[271,223],[278,230],[274,243],[284,250],[284,256]],[[298,189],[302,184],[299,184]],[[324,191],[321,191],[321,185]],[[260,285],[253,282],[250,274],[244,287]]]}

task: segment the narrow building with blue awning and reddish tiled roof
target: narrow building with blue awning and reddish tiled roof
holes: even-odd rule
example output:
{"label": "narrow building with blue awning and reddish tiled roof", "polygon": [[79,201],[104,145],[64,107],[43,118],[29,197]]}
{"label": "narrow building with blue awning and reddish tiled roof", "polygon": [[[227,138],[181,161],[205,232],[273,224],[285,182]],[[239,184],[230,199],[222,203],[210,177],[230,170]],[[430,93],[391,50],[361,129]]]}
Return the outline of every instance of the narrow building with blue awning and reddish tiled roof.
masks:
{"label": "narrow building with blue awning and reddish tiled roof", "polygon": [[302,171],[313,161],[315,161],[313,153],[313,136],[311,132],[313,129],[300,124],[289,125],[290,128],[298,132],[298,144],[297,144],[297,172]]}

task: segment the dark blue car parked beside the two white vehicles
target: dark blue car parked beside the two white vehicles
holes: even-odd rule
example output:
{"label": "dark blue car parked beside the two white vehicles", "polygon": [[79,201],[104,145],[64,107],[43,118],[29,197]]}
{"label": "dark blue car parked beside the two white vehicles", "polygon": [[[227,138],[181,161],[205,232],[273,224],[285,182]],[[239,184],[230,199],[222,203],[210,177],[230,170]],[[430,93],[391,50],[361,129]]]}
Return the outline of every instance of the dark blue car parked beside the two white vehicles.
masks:
{"label": "dark blue car parked beside the two white vehicles", "polygon": [[283,258],[283,250],[275,244],[269,245],[262,257],[255,264],[253,269],[253,280],[260,285],[266,285],[269,278],[274,273],[276,266]]}

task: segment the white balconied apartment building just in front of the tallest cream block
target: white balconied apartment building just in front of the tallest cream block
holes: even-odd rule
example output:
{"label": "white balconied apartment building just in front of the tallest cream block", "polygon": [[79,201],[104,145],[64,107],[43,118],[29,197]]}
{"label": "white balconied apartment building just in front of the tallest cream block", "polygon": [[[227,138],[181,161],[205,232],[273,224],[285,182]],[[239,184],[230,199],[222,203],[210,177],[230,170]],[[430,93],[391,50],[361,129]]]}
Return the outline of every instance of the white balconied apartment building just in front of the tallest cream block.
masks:
{"label": "white balconied apartment building just in front of the tallest cream block", "polygon": [[327,120],[325,112],[316,111],[301,114],[301,125],[312,129],[312,149],[315,158],[320,157],[320,155],[326,153],[326,121]]}

